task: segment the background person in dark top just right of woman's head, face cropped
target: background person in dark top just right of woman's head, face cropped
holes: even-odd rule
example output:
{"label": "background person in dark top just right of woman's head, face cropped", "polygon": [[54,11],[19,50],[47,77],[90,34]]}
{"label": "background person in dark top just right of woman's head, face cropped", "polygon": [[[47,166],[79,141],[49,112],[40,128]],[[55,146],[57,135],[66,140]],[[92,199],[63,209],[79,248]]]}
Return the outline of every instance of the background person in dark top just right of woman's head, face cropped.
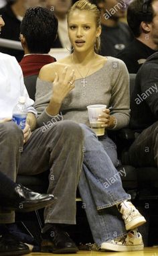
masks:
{"label": "background person in dark top just right of woman's head, face cropped", "polygon": [[102,33],[99,53],[102,56],[115,57],[133,39],[129,26],[119,21],[121,17],[125,17],[128,3],[121,0],[90,0],[90,2],[100,9]]}

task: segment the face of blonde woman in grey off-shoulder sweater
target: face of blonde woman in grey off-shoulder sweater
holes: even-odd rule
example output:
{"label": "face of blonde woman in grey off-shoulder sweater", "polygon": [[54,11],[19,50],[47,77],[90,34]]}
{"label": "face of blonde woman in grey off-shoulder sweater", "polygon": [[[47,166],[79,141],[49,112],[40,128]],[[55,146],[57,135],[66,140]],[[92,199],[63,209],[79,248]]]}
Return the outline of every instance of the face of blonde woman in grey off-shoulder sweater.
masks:
{"label": "face of blonde woman in grey off-shoulder sweater", "polygon": [[96,28],[94,13],[80,10],[70,13],[68,34],[74,50],[79,52],[94,50],[96,36],[99,36],[100,32],[101,29]]}

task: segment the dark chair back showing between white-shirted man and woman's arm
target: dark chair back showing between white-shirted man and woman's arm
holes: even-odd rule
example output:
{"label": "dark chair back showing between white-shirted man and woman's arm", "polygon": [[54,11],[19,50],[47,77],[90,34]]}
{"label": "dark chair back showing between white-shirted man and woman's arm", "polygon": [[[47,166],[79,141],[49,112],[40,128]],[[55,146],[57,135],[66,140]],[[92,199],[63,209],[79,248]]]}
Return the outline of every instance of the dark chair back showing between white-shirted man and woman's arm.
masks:
{"label": "dark chair back showing between white-shirted man and woman's arm", "polygon": [[33,100],[35,100],[35,86],[36,86],[37,76],[38,75],[29,75],[27,77],[24,77],[25,87],[29,93],[29,97]]}

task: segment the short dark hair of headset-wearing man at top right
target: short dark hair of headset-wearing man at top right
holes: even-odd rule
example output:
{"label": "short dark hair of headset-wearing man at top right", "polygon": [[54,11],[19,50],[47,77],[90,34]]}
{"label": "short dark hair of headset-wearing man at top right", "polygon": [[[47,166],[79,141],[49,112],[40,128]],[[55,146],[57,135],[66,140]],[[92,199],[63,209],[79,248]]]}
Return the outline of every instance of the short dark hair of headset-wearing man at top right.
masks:
{"label": "short dark hair of headset-wearing man at top right", "polygon": [[[152,3],[155,0],[147,1],[147,13],[149,13],[149,20],[147,21],[145,18],[145,13],[143,13],[143,3],[144,0],[134,0],[131,2],[129,7],[127,8],[127,22],[129,24],[129,28],[133,32],[135,37],[141,35],[141,22],[152,22],[154,17],[154,11],[152,7]],[[147,15],[146,15],[147,17]],[[151,20],[150,20],[151,19]]]}

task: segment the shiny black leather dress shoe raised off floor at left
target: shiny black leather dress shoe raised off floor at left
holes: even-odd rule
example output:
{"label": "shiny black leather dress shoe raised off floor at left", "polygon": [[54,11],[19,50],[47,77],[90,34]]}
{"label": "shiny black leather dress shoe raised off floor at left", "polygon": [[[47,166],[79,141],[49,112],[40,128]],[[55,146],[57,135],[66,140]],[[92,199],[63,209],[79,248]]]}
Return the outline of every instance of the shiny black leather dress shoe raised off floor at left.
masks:
{"label": "shiny black leather dress shoe raised off floor at left", "polygon": [[17,200],[3,200],[2,208],[18,212],[31,212],[49,206],[54,201],[53,195],[36,193],[21,184],[15,187],[14,198]]}

